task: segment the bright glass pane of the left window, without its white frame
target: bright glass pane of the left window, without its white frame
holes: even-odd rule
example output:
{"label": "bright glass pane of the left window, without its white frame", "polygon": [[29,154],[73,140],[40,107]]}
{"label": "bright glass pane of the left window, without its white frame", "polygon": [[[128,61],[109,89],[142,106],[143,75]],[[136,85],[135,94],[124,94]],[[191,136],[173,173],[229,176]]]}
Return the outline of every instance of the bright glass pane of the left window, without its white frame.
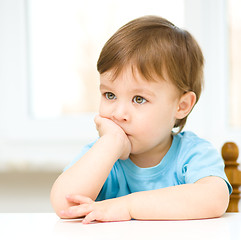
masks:
{"label": "bright glass pane of the left window, without its white frame", "polygon": [[183,27],[184,1],[29,0],[33,116],[51,118],[96,112],[96,62],[101,48],[123,24],[148,14],[161,15]]}

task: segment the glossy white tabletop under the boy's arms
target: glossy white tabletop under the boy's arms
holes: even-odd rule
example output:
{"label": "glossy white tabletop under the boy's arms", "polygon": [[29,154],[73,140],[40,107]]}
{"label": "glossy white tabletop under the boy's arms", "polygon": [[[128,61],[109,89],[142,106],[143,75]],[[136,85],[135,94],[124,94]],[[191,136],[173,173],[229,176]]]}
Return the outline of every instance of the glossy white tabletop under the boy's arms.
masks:
{"label": "glossy white tabletop under the boy's arms", "polygon": [[54,213],[0,213],[0,239],[241,240],[241,213],[188,221],[128,221],[83,225]]}

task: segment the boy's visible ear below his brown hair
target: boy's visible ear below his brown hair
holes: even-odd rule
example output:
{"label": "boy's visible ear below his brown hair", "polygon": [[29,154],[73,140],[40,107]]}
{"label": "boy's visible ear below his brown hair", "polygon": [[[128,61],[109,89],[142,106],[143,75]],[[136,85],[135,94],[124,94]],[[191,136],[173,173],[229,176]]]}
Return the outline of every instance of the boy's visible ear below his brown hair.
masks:
{"label": "boy's visible ear below his brown hair", "polygon": [[196,94],[194,92],[187,92],[183,94],[177,106],[176,119],[185,118],[191,112],[195,103]]}

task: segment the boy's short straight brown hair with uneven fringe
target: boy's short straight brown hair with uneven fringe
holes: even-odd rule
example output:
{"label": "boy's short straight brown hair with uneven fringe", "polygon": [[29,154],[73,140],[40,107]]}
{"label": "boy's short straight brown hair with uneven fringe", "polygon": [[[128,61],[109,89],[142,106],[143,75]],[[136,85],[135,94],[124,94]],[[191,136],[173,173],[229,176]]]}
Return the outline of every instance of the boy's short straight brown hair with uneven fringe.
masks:
{"label": "boy's short straight brown hair with uneven fringe", "polygon": [[[121,27],[104,45],[98,62],[100,74],[114,70],[117,76],[132,64],[150,81],[164,73],[182,92],[192,91],[198,101],[203,87],[202,51],[186,30],[157,16],[137,18]],[[187,117],[176,121],[180,132]]]}

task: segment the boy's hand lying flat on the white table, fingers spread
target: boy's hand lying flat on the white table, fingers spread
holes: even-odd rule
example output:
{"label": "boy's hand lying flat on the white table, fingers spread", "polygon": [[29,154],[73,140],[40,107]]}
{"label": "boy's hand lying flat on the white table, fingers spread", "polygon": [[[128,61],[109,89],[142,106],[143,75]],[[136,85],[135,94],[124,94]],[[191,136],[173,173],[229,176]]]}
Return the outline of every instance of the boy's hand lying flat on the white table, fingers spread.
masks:
{"label": "boy's hand lying flat on the white table, fingers spread", "polygon": [[85,216],[83,224],[94,220],[101,222],[128,221],[131,220],[128,209],[128,197],[119,197],[100,202],[94,202],[91,198],[82,195],[68,195],[66,199],[76,206],[61,211],[63,218],[78,218]]}

